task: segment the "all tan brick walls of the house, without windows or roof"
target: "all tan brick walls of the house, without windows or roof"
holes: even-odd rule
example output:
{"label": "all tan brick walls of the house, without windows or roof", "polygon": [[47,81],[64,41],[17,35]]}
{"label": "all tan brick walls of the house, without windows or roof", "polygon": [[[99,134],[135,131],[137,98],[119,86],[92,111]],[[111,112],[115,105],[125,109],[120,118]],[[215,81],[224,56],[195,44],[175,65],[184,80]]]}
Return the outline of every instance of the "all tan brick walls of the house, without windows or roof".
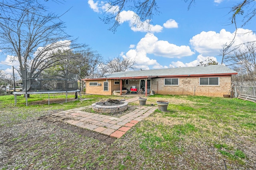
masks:
{"label": "all tan brick walls of the house, without windows or roof", "polygon": [[[216,76],[215,76],[216,77]],[[170,86],[164,85],[164,78],[157,78],[151,81],[151,90],[154,90],[156,94],[162,95],[197,95],[197,96],[219,96],[227,95],[231,86],[231,75],[219,77],[220,85],[199,85],[200,77],[173,77],[179,78],[179,85]],[[86,93],[97,95],[112,95],[114,90],[120,90],[120,84],[115,85],[114,81],[120,80],[108,80],[108,91],[104,91],[104,82],[106,80],[86,81]],[[101,86],[90,86],[89,82],[101,83]],[[125,84],[125,80],[122,80],[122,87],[130,88],[135,85],[139,90],[140,80],[129,80],[128,85]]]}

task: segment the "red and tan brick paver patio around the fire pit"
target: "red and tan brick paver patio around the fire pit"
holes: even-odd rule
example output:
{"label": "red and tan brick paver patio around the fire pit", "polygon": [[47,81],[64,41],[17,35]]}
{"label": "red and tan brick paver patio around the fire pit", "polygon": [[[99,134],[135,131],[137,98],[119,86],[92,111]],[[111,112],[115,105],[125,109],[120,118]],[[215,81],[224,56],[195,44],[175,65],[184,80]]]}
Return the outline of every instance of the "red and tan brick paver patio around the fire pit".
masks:
{"label": "red and tan brick paver patio around the fire pit", "polygon": [[[136,100],[138,100],[138,97],[126,101],[132,102]],[[54,115],[67,118],[68,121],[65,122],[71,125],[93,130],[111,137],[120,138],[130,128],[136,125],[139,121],[142,121],[145,117],[148,117],[157,109],[157,107],[151,106],[138,106],[138,109],[135,109],[126,115],[121,117],[111,117],[82,111],[88,107],[91,106],[70,109]]]}

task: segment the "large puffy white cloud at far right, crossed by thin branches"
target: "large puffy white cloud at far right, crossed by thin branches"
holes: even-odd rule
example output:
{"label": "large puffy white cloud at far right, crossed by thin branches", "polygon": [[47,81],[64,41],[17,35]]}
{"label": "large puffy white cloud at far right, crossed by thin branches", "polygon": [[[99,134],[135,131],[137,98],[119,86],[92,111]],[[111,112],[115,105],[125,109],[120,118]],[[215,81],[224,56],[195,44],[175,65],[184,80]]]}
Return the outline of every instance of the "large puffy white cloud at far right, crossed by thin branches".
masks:
{"label": "large puffy white cloud at far right, crossed by thin branches", "polygon": [[[235,36],[236,34],[236,36]],[[192,47],[202,55],[218,55],[222,45],[230,43],[235,36],[234,45],[256,41],[256,34],[252,30],[238,28],[237,32],[227,32],[225,29],[220,33],[214,31],[201,32],[190,39]]]}

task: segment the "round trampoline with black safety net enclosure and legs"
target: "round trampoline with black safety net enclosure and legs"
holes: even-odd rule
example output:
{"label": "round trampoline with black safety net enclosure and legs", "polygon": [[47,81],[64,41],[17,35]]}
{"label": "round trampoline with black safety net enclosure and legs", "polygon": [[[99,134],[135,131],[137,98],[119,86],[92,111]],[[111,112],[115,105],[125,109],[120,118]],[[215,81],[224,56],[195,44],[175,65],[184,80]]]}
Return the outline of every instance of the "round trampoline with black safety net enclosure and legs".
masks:
{"label": "round trampoline with black safety net enclosure and legs", "polygon": [[[31,74],[31,70],[38,74]],[[71,73],[68,68],[63,70],[39,70],[26,68],[24,71],[18,71],[22,77],[22,91],[14,91],[14,105],[17,104],[17,95],[25,95],[26,106],[28,106],[28,95],[30,94],[48,94],[48,105],[50,105],[50,94],[66,93],[66,102],[68,93],[75,93],[75,99],[78,100],[78,77],[76,73]],[[22,73],[23,72],[23,73]],[[25,78],[26,77],[26,78]],[[15,82],[14,82],[15,84]]]}

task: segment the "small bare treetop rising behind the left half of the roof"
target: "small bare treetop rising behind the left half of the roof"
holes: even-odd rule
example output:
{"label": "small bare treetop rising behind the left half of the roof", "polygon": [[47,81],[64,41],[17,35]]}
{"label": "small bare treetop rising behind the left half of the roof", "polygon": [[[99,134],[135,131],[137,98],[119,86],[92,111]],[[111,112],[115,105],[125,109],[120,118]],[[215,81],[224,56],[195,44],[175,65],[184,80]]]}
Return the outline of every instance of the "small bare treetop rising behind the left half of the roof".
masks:
{"label": "small bare treetop rising behind the left half of the roof", "polygon": [[129,69],[134,70],[136,61],[130,58],[116,57],[114,59],[108,59],[107,64],[100,64],[101,75],[112,74],[120,71],[127,71]]}

